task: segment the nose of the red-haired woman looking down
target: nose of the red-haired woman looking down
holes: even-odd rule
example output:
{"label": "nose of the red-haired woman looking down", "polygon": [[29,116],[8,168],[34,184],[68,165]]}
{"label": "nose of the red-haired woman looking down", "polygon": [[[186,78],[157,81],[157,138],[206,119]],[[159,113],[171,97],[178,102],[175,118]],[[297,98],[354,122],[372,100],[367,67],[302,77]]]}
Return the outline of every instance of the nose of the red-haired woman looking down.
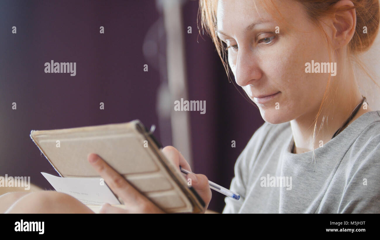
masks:
{"label": "nose of the red-haired woman looking down", "polygon": [[239,49],[236,59],[236,84],[245,87],[261,79],[258,58],[250,49]]}

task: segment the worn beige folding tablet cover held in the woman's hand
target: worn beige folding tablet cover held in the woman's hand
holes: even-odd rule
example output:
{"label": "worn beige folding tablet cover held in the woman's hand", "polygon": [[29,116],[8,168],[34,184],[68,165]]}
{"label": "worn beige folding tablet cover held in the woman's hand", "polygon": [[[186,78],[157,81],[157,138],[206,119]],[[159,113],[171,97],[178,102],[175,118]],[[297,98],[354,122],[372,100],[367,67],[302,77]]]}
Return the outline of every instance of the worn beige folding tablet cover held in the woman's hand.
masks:
{"label": "worn beige folding tablet cover held in the woman's hand", "polygon": [[30,137],[62,177],[100,177],[87,162],[89,153],[97,153],[165,212],[203,210],[183,175],[165,158],[139,120],[32,130]]}

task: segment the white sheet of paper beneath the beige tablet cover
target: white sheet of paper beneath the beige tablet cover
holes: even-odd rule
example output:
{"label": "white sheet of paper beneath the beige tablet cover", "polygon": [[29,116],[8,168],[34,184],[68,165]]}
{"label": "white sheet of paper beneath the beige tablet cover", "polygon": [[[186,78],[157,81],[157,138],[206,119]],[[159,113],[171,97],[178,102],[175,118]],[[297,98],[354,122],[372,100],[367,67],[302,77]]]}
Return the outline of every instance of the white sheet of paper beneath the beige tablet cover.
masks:
{"label": "white sheet of paper beneath the beige tablet cover", "polygon": [[[55,191],[69,194],[86,205],[103,203],[120,204],[111,189],[101,178],[56,177],[45,172],[41,174],[53,186]],[[103,184],[102,184],[103,183]]]}

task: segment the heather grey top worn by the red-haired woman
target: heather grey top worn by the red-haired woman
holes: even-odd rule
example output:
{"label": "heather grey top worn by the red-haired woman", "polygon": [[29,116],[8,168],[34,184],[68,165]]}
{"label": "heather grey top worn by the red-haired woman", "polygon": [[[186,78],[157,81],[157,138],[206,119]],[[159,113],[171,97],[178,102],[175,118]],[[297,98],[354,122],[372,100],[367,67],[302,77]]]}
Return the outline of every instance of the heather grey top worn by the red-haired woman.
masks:
{"label": "heather grey top worn by the red-haired woman", "polygon": [[264,123],[235,164],[223,213],[380,213],[380,111],[312,151],[291,153],[290,122]]}

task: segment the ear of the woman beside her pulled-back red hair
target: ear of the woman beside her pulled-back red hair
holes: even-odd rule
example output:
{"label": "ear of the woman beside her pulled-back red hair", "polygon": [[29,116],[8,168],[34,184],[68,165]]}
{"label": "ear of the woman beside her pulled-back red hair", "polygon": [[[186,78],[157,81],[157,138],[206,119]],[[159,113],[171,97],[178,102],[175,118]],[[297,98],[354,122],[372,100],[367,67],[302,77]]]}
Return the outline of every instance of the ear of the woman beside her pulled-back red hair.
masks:
{"label": "ear of the woman beside her pulled-back red hair", "polygon": [[[333,5],[334,8],[349,8],[354,4],[350,0],[340,0]],[[332,27],[332,46],[338,49],[347,45],[354,33],[356,27],[356,11],[355,8],[345,11],[337,11],[331,16]]]}

